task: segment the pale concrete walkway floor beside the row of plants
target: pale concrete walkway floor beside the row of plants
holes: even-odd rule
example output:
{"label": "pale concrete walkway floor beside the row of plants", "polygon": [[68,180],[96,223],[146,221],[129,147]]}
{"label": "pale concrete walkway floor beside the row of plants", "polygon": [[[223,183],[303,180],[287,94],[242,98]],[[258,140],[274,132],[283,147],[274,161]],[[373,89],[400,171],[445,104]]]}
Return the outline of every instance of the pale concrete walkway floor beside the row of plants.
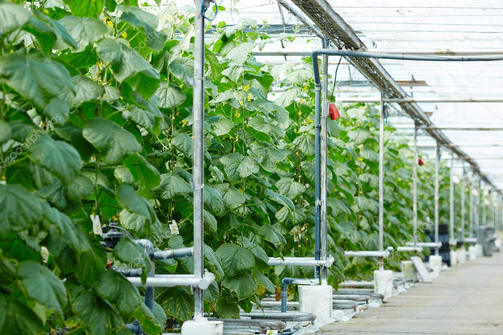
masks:
{"label": "pale concrete walkway floor beside the row of plants", "polygon": [[503,334],[503,252],[442,272],[433,283],[368,309],[323,334]]}

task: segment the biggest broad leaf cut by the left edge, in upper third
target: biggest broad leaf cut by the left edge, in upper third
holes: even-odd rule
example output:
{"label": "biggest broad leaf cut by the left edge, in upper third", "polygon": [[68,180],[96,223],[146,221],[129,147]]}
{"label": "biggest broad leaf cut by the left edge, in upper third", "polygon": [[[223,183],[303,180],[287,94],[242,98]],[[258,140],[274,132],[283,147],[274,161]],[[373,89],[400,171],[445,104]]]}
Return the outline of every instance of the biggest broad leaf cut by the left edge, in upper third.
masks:
{"label": "biggest broad leaf cut by the left edge, in upper third", "polygon": [[38,53],[4,55],[0,58],[0,78],[41,108],[61,92],[73,91],[68,70]]}

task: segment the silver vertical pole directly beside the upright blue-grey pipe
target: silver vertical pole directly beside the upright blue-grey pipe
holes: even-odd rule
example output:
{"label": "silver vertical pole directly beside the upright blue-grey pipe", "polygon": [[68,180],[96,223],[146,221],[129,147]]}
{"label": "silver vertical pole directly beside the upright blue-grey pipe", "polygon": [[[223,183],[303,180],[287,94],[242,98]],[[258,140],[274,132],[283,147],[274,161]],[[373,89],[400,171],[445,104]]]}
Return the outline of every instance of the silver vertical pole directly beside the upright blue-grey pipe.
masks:
{"label": "silver vertical pole directly beside the upright blue-grey pipe", "polygon": [[[323,48],[327,48],[323,40]],[[327,246],[327,221],[326,221],[326,155],[327,155],[327,132],[326,123],[328,118],[328,55],[321,59],[321,259],[326,260]],[[328,285],[327,268],[321,268],[321,285]]]}

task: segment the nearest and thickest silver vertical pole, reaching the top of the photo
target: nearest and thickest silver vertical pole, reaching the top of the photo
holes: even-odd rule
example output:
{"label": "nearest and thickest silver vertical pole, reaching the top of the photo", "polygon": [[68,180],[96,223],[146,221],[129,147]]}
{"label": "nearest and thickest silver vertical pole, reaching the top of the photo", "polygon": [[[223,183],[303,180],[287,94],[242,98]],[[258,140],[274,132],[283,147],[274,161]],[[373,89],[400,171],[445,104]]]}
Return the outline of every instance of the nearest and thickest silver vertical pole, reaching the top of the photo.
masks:
{"label": "nearest and thickest silver vertical pole, reaching the top of the photo", "polygon": [[[196,0],[194,19],[194,99],[192,103],[192,182],[194,188],[194,277],[202,278],[203,269],[203,187],[204,187],[204,17],[201,0]],[[203,291],[194,288],[194,318],[203,317]]]}

